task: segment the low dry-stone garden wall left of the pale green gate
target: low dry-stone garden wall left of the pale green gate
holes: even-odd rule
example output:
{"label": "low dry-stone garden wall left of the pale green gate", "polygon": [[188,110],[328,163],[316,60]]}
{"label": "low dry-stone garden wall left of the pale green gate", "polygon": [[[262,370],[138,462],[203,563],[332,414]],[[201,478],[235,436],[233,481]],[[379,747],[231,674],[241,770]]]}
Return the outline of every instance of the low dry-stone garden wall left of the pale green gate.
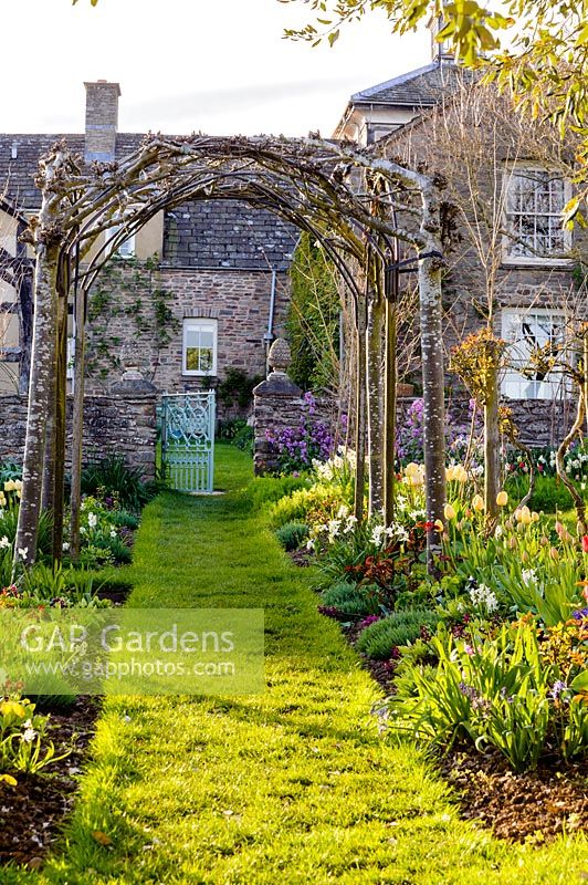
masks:
{"label": "low dry-stone garden wall left of the pale green gate", "polygon": [[[155,477],[156,395],[87,396],[84,413],[84,461],[108,454],[123,455],[130,467],[139,467],[146,479]],[[2,434],[0,461],[22,461],[27,429],[27,399],[0,396]],[[72,400],[67,400],[71,425]],[[70,439],[69,439],[70,442]]]}

